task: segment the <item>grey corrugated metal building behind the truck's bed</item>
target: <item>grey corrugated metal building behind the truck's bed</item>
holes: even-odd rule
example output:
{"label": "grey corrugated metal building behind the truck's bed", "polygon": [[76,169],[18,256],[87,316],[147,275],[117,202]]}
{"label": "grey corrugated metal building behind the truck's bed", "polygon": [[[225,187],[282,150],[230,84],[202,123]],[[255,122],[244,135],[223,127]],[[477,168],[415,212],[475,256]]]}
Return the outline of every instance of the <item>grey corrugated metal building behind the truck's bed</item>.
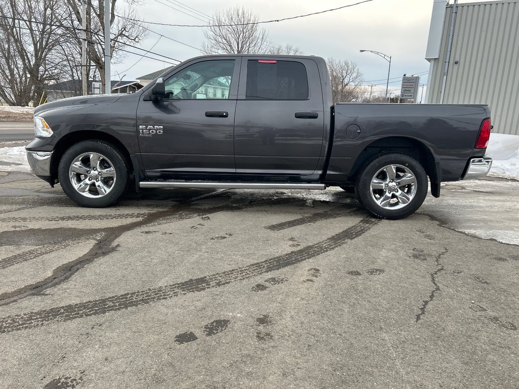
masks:
{"label": "grey corrugated metal building behind the truck's bed", "polygon": [[[435,0],[434,7],[426,54],[427,103],[441,102],[453,13],[445,0]],[[519,135],[519,0],[461,3],[454,20],[443,103],[488,104],[493,132]]]}

